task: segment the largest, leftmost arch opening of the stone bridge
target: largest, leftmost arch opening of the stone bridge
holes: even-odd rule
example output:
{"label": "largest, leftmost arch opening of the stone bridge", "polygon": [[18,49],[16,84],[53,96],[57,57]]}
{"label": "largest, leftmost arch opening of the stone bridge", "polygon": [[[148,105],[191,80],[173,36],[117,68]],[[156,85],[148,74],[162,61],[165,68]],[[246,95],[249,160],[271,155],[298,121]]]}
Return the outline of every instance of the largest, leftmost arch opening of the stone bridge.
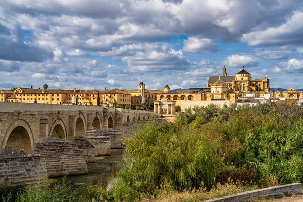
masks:
{"label": "largest, leftmost arch opening of the stone bridge", "polygon": [[33,145],[34,138],[30,125],[25,120],[18,119],[7,130],[1,148],[24,150],[31,153]]}

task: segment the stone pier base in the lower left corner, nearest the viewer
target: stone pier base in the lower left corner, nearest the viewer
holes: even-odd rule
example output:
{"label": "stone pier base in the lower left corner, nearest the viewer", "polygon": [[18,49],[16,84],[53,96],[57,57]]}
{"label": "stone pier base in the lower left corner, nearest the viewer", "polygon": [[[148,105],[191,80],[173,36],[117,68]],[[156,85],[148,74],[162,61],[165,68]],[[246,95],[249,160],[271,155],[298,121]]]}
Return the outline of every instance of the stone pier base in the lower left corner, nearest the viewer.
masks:
{"label": "stone pier base in the lower left corner, nearest the viewer", "polygon": [[0,186],[33,184],[45,175],[42,155],[0,148]]}

